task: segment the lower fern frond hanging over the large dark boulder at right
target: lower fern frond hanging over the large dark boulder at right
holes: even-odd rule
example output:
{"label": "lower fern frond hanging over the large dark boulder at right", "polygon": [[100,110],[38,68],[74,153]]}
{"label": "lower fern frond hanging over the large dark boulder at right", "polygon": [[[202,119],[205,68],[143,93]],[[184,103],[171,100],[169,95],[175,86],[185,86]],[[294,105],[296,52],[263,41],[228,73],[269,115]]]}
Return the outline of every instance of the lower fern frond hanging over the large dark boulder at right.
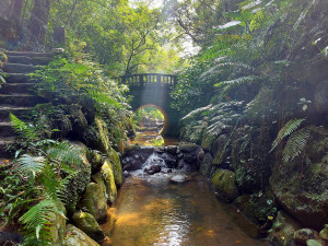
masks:
{"label": "lower fern frond hanging over the large dark boulder at right", "polygon": [[284,163],[293,161],[305,149],[308,138],[309,130],[307,128],[292,133],[283,149],[282,161]]}

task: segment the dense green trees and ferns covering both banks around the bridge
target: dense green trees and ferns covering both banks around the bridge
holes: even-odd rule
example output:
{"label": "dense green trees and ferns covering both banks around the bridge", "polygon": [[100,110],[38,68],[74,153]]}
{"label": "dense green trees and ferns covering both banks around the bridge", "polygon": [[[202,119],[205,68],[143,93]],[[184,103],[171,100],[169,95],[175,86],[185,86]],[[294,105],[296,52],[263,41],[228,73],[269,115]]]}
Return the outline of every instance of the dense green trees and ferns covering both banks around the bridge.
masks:
{"label": "dense green trees and ferns covering both banks around the bridge", "polygon": [[[116,190],[121,169],[113,151],[124,152],[133,120],[128,89],[115,79],[166,72],[179,78],[172,107],[181,116],[180,138],[202,147],[200,172],[219,192],[225,175],[234,177],[227,199],[277,245],[291,242],[291,233],[281,232],[280,208],[323,230],[327,11],[323,0],[2,1],[1,48],[51,51],[62,46],[52,42],[58,26],[67,36],[65,51],[56,49],[51,62],[32,74],[43,102],[24,119],[11,115],[23,143],[11,147],[16,159],[0,169],[7,226],[24,226],[26,245],[54,243],[49,221],[72,215],[91,173],[99,171],[97,151],[114,163],[102,168],[115,173]],[[186,45],[198,51],[186,56]],[[0,68],[5,62],[0,54]],[[144,115],[163,117],[147,109],[134,119]],[[89,180],[78,178],[83,172]],[[68,195],[72,184],[81,187]],[[110,203],[113,196],[108,191]]]}

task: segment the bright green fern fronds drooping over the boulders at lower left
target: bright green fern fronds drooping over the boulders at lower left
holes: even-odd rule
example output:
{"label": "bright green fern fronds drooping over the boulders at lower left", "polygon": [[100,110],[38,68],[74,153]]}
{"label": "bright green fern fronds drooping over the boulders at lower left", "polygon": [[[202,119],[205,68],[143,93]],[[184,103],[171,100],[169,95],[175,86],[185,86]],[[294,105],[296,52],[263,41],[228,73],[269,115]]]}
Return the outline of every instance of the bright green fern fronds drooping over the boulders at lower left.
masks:
{"label": "bright green fern fronds drooping over the boulders at lower left", "polygon": [[[82,164],[81,151],[68,142],[56,142],[42,148],[40,152],[42,156],[22,155],[14,171],[27,180],[30,189],[37,190],[37,197],[28,199],[28,211],[19,220],[27,233],[24,245],[52,245],[51,221],[54,214],[65,216],[60,199],[65,197],[68,180],[75,175],[70,166]],[[63,173],[67,175],[61,176]]]}

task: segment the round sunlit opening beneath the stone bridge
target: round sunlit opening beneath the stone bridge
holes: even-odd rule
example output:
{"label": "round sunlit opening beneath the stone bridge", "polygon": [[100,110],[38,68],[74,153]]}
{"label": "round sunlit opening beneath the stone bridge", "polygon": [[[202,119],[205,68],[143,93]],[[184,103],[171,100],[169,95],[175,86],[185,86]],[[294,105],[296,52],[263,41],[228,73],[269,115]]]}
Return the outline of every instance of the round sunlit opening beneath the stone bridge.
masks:
{"label": "round sunlit opening beneath the stone bridge", "polygon": [[168,117],[165,110],[154,104],[145,104],[134,110],[134,121],[141,131],[152,131],[157,134],[165,132]]}

